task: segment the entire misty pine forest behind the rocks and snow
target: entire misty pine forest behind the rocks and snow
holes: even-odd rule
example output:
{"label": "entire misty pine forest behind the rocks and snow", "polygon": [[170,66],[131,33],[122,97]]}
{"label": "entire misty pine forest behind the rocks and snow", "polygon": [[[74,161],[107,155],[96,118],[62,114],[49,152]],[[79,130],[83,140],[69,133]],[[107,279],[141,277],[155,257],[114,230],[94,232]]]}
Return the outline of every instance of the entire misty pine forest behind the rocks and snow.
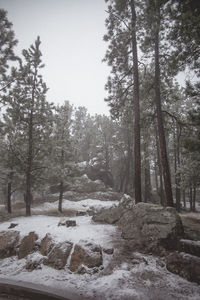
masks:
{"label": "entire misty pine forest behind the rocks and snow", "polygon": [[21,192],[31,215],[35,195],[52,185],[59,187],[62,211],[63,192],[83,162],[96,166],[106,187],[133,196],[136,203],[177,211],[189,203],[195,211],[200,3],[106,2],[109,117],[91,116],[70,99],[59,106],[49,103],[40,37],[17,56],[12,23],[0,10],[0,185],[8,212],[12,196]]}

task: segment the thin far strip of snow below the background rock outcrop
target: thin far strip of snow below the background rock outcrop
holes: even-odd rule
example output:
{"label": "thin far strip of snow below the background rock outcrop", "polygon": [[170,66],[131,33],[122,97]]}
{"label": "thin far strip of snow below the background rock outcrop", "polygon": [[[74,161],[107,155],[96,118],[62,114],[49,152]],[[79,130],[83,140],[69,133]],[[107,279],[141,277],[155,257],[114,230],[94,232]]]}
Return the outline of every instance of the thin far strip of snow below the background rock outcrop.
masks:
{"label": "thin far strip of snow below the background rock outcrop", "polygon": [[[103,207],[111,207],[113,205],[118,205],[119,201],[102,201],[102,200],[96,200],[96,199],[85,199],[80,201],[69,201],[69,200],[63,200],[62,207],[65,210],[81,210],[81,211],[87,211],[89,209],[94,209],[95,211],[103,208]],[[44,204],[33,207],[32,212],[39,213],[44,212],[46,210],[57,210],[58,208],[58,201],[55,201],[53,203],[45,202]]]}

